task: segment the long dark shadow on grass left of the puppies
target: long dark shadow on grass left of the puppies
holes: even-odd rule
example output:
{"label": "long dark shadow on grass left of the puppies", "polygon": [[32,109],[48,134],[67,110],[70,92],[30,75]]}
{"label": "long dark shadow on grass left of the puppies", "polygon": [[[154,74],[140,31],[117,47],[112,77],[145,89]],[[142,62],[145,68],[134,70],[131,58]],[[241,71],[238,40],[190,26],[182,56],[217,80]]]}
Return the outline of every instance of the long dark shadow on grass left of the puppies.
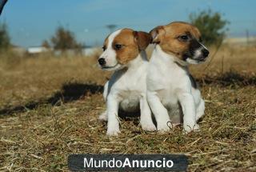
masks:
{"label": "long dark shadow on grass left of the puppies", "polygon": [[62,90],[55,93],[52,97],[34,102],[28,102],[23,106],[13,106],[0,110],[0,115],[14,114],[26,110],[34,110],[43,104],[60,106],[62,103],[72,102],[82,98],[86,94],[97,94],[103,92],[103,86],[96,84],[66,83]]}

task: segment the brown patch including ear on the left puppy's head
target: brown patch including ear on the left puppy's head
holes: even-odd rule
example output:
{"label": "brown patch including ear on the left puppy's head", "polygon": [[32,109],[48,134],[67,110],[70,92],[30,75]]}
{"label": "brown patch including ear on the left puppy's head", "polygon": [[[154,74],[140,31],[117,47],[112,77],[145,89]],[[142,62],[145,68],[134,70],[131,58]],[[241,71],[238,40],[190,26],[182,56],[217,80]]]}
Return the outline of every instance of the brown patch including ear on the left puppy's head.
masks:
{"label": "brown patch including ear on the left puppy's head", "polygon": [[151,36],[146,32],[137,32],[130,29],[123,29],[114,38],[112,47],[115,50],[115,45],[122,45],[120,50],[115,50],[118,62],[122,65],[130,62],[138,56],[141,50],[145,50],[150,44]]}

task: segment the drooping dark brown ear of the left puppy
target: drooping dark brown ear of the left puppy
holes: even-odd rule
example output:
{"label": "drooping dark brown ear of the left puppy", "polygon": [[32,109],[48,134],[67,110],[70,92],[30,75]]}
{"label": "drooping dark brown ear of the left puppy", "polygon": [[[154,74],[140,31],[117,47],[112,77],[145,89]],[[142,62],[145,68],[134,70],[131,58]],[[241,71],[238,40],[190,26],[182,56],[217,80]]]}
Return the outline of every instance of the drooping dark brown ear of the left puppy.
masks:
{"label": "drooping dark brown ear of the left puppy", "polygon": [[145,50],[152,40],[150,34],[142,31],[134,31],[134,39],[138,42],[138,50]]}

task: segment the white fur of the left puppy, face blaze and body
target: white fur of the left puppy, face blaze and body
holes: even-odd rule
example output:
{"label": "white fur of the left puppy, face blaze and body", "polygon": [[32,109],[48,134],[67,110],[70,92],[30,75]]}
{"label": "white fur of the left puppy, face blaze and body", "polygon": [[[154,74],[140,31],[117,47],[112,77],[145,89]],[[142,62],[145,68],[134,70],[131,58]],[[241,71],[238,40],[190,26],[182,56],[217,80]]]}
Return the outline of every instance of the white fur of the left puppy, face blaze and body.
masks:
{"label": "white fur of the left puppy, face blaze and body", "polygon": [[[106,58],[108,66],[113,65],[113,62],[118,62],[111,44],[119,32],[120,30],[110,35],[107,49],[100,57]],[[120,133],[118,109],[127,112],[140,110],[142,129],[156,130],[151,118],[150,107],[146,101],[146,71],[148,64],[146,52],[142,50],[138,57],[128,62],[126,66],[118,64],[118,68],[114,67],[114,74],[104,86],[103,96],[106,100],[106,112],[99,116],[100,119],[108,121],[107,135],[118,135]]]}

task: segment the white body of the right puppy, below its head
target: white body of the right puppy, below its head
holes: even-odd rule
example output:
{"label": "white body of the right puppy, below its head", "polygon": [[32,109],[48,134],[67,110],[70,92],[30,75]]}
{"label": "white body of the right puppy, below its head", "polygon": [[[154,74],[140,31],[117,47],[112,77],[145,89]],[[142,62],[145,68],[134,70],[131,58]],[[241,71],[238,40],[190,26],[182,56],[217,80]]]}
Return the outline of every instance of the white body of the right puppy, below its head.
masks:
{"label": "white body of the right puppy, below its head", "polygon": [[146,84],[147,100],[158,130],[170,130],[169,122],[178,124],[182,115],[186,133],[199,129],[197,120],[205,109],[200,91],[192,86],[187,68],[178,65],[177,58],[158,45],[150,58]]}

